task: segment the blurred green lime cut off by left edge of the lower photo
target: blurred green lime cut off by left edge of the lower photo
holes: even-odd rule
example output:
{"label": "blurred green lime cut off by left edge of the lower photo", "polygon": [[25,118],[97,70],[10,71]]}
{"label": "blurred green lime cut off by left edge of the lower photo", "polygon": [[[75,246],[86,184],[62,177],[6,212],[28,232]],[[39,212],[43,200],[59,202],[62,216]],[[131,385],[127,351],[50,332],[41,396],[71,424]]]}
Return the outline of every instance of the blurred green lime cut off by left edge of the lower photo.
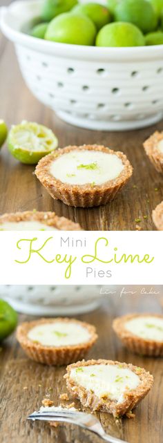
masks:
{"label": "blurred green lime cut off by left edge of the lower photo", "polygon": [[0,341],[6,339],[17,326],[17,312],[0,299]]}

